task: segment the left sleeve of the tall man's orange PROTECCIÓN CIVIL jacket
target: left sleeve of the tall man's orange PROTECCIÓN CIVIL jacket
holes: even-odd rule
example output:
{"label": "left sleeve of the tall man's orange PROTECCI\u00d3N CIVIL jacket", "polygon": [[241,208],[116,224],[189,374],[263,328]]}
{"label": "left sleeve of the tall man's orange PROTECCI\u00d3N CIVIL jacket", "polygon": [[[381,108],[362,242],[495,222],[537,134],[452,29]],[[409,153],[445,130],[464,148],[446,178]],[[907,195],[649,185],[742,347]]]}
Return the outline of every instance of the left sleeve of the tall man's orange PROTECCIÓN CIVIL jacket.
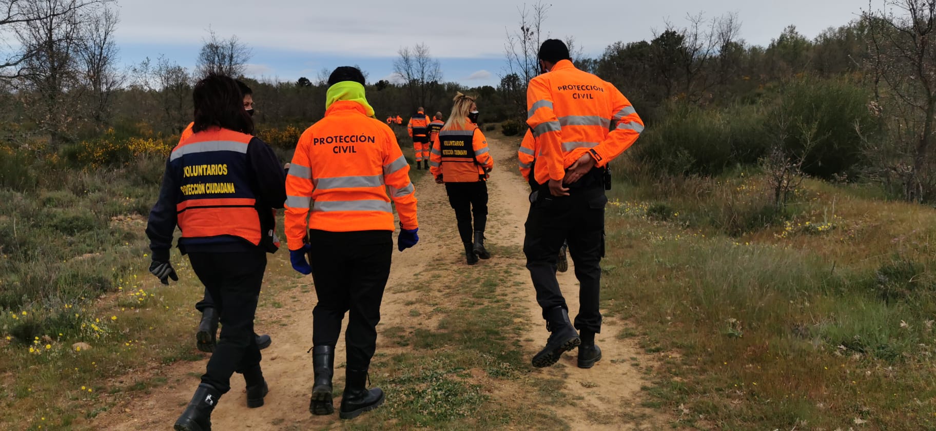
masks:
{"label": "left sleeve of the tall man's orange PROTECCI\u00d3N CIVIL jacket", "polygon": [[530,80],[527,88],[527,124],[540,146],[537,163],[546,165],[550,180],[563,180],[563,128],[552,110],[552,94],[542,77]]}

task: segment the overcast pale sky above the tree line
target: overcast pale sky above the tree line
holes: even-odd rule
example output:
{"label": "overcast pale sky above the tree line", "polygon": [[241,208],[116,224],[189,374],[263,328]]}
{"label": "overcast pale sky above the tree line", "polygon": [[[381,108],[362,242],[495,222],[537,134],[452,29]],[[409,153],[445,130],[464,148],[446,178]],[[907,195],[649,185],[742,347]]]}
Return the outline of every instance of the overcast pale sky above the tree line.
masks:
{"label": "overcast pale sky above the tree line", "polygon": [[[360,65],[369,79],[387,78],[397,50],[426,43],[445,80],[496,85],[505,68],[505,31],[518,26],[521,1],[119,0],[117,43],[124,64],[166,54],[195,64],[207,29],[237,35],[253,49],[248,75],[314,79],[323,67]],[[874,0],[880,4],[881,0]],[[394,5],[389,7],[388,5]],[[531,2],[527,2],[531,4]],[[794,24],[807,37],[856,19],[867,0],[553,1],[544,33],[575,36],[590,56],[615,41],[650,39],[665,21],[687,13],[714,18],[736,12],[741,36],[767,45]],[[419,9],[418,6],[422,6]]]}

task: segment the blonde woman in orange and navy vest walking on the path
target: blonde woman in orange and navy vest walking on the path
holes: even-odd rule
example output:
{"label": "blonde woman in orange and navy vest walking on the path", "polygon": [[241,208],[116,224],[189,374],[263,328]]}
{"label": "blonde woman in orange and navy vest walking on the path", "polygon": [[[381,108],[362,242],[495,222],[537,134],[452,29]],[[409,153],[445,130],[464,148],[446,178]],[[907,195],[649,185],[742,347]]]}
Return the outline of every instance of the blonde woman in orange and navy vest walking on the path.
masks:
{"label": "blonde woman in orange and navy vest walking on the path", "polygon": [[455,210],[468,265],[475,265],[478,258],[490,259],[490,252],[484,247],[484,229],[488,222],[487,180],[494,159],[477,126],[477,116],[475,98],[458,93],[452,114],[439,131],[439,145],[432,147],[429,162],[435,182],[446,184],[448,203]]}

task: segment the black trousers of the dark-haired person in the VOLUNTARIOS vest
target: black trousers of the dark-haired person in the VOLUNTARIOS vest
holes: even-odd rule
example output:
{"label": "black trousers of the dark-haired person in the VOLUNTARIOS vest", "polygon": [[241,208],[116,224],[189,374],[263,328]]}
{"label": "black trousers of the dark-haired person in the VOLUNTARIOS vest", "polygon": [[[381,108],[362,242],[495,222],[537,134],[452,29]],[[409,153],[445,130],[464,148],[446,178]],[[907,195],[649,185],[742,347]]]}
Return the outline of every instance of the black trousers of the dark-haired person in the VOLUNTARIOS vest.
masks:
{"label": "black trousers of the dark-haired person in the VOLUNTARIOS vest", "polygon": [[260,364],[254,315],[263,272],[267,268],[267,253],[259,248],[256,251],[190,252],[188,259],[221,316],[221,337],[201,381],[224,394],[230,390],[231,375]]}

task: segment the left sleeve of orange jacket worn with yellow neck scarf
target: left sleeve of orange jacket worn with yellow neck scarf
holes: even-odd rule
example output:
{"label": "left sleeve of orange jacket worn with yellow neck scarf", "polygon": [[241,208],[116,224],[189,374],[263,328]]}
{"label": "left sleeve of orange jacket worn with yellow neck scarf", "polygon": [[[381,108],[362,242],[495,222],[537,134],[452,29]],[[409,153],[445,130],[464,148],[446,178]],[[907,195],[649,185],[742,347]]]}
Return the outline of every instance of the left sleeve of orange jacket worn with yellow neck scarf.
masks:
{"label": "left sleeve of orange jacket worn with yellow neck scarf", "polygon": [[312,145],[312,133],[306,131],[299,138],[296,152],[286,175],[285,199],[285,235],[289,250],[302,248],[303,239],[308,230],[309,208],[312,205],[312,166],[309,148]]}

